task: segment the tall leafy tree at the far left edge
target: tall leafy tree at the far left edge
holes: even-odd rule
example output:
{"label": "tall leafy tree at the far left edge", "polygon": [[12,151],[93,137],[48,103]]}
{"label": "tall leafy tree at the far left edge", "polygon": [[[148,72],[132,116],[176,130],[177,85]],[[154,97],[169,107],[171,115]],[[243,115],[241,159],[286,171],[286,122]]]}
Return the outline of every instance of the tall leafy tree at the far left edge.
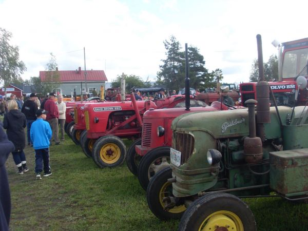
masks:
{"label": "tall leafy tree at the far left edge", "polygon": [[21,74],[27,70],[20,61],[18,46],[10,45],[12,33],[0,27],[0,80],[7,86],[10,83],[22,82]]}

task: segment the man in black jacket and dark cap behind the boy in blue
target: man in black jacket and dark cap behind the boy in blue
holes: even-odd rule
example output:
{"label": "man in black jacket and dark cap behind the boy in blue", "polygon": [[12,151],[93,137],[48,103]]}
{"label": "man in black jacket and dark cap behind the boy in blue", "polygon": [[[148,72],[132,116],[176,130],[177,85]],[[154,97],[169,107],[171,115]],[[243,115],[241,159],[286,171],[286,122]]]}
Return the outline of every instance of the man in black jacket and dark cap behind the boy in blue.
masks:
{"label": "man in black jacket and dark cap behind the boy in blue", "polygon": [[28,139],[28,145],[31,145],[31,139],[30,139],[30,128],[31,124],[36,120],[35,112],[37,110],[37,106],[35,103],[35,100],[37,99],[35,93],[30,94],[30,99],[26,100],[22,107],[22,112],[26,115],[27,119],[27,139]]}

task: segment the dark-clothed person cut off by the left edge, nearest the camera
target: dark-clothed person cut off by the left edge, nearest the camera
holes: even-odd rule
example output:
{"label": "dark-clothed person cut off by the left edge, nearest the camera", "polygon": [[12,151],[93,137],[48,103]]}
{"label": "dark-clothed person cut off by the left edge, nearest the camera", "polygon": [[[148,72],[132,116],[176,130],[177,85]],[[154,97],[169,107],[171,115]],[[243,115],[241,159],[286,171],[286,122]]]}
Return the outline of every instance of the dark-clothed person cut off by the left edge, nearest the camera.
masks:
{"label": "dark-clothed person cut off by the left edge, nearest the camera", "polygon": [[8,140],[2,126],[0,122],[0,230],[7,231],[11,215],[11,195],[5,162],[15,148],[14,144]]}

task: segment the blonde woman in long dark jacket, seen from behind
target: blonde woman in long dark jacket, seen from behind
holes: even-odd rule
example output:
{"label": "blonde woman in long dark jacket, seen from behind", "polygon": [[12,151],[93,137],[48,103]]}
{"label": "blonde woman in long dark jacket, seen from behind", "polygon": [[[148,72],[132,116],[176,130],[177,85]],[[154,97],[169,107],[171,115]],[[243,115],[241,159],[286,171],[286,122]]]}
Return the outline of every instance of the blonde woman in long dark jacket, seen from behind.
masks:
{"label": "blonde woman in long dark jacket, seen from behind", "polygon": [[14,162],[18,168],[18,174],[24,174],[29,169],[24,152],[26,145],[25,127],[27,126],[26,116],[17,109],[18,105],[15,100],[8,103],[9,112],[4,115],[3,127],[7,129],[7,135],[13,142],[15,150],[12,151]]}

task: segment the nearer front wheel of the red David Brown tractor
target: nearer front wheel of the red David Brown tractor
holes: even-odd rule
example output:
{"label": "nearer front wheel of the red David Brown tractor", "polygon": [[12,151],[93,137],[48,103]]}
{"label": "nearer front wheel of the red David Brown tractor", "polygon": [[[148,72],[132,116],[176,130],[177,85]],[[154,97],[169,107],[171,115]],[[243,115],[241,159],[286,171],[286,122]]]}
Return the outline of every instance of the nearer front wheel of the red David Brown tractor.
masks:
{"label": "nearer front wheel of the red David Brown tractor", "polygon": [[119,137],[105,136],[94,143],[92,158],[100,168],[119,166],[125,157],[125,144]]}

